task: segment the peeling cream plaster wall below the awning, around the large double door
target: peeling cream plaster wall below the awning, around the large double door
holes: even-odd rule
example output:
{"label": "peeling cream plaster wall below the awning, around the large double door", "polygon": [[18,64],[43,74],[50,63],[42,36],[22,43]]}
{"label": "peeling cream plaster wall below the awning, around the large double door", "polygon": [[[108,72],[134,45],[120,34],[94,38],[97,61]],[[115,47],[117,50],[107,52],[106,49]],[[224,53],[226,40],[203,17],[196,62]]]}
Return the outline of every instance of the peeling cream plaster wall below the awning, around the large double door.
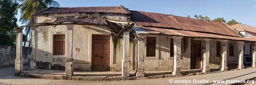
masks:
{"label": "peeling cream plaster wall below the awning, around the large double door", "polygon": [[[35,32],[35,61],[38,69],[64,70],[65,55],[52,55],[52,36],[53,34],[65,34],[67,26],[59,25],[44,26],[36,28]],[[90,71],[91,70],[91,44],[93,34],[111,35],[108,27],[74,25],[73,28],[73,60],[74,69]],[[132,40],[130,41],[130,54],[133,53]],[[111,71],[122,70],[123,40],[122,37],[116,38],[111,35],[110,48],[110,67]],[[67,48],[67,47],[65,47]],[[79,51],[76,49],[80,49]],[[116,50],[116,51],[115,51]],[[131,62],[132,55],[130,55]],[[132,64],[132,63],[131,63]],[[132,67],[133,65],[131,65]],[[56,68],[59,67],[59,68]]]}

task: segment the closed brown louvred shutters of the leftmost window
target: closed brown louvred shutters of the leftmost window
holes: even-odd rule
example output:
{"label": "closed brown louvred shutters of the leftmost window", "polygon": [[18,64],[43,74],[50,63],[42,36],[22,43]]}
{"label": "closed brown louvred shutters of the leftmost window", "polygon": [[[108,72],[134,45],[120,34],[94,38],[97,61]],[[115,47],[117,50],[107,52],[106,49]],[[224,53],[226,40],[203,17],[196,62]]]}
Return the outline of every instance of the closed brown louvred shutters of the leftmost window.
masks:
{"label": "closed brown louvred shutters of the leftmost window", "polygon": [[53,55],[65,54],[65,35],[55,34],[53,35]]}

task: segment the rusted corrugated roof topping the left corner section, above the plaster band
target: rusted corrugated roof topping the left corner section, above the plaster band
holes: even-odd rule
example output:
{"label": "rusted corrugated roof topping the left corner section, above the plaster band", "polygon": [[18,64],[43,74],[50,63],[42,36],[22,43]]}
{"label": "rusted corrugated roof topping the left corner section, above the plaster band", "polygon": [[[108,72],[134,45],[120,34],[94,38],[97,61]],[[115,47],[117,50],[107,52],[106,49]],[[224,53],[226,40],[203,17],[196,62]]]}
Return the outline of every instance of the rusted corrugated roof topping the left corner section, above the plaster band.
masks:
{"label": "rusted corrugated roof topping the left corner section, above the plaster band", "polygon": [[43,11],[39,11],[37,14],[55,14],[55,13],[72,13],[72,12],[100,12],[100,13],[117,13],[117,14],[128,14],[127,11],[123,10],[118,6],[109,7],[50,7]]}

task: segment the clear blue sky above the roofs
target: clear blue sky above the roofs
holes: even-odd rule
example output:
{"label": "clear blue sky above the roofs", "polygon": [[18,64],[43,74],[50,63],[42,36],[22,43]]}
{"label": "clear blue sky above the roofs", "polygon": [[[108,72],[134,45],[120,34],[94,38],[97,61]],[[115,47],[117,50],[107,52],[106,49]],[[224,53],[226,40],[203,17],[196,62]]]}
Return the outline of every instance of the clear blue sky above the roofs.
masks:
{"label": "clear blue sky above the roofs", "polygon": [[[55,0],[61,7],[119,6],[129,10],[173,14],[186,17],[195,14],[235,19],[256,27],[256,0]],[[17,14],[20,19],[20,14]],[[21,26],[20,22],[17,22]]]}

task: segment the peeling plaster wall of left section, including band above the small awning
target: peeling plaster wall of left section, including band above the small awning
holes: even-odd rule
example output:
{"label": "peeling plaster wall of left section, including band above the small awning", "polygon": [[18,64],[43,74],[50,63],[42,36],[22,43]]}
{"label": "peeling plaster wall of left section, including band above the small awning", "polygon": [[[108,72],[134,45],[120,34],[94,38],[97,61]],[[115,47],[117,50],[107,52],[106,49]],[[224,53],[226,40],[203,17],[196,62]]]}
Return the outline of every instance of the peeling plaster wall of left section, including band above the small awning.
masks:
{"label": "peeling plaster wall of left section, including band above the small awning", "polygon": [[[62,13],[51,14],[58,17],[102,17],[109,20],[128,21],[127,14],[113,14],[113,13]],[[37,15],[35,16],[35,23],[51,23],[56,20],[57,17],[50,15]],[[61,68],[57,70],[63,70],[65,66],[64,55],[52,55],[52,35],[53,34],[65,34],[67,26],[58,25],[55,28],[53,26],[38,27],[35,30],[35,52],[31,54],[31,68],[36,67],[38,69],[55,69],[56,66]],[[74,25],[73,28],[73,59],[75,70],[91,70],[91,49],[92,49],[92,34],[106,34],[111,35],[111,30],[106,26],[88,26],[88,25]],[[33,39],[33,38],[32,38]],[[130,40],[130,61],[131,71],[134,69],[133,60],[133,40]],[[111,47],[110,47],[110,68],[111,71],[122,71],[122,57],[123,57],[123,39],[122,36],[111,35]],[[34,49],[33,48],[33,49]],[[65,47],[67,48],[67,47]],[[76,49],[80,49],[77,51]],[[35,58],[34,58],[35,57]]]}

